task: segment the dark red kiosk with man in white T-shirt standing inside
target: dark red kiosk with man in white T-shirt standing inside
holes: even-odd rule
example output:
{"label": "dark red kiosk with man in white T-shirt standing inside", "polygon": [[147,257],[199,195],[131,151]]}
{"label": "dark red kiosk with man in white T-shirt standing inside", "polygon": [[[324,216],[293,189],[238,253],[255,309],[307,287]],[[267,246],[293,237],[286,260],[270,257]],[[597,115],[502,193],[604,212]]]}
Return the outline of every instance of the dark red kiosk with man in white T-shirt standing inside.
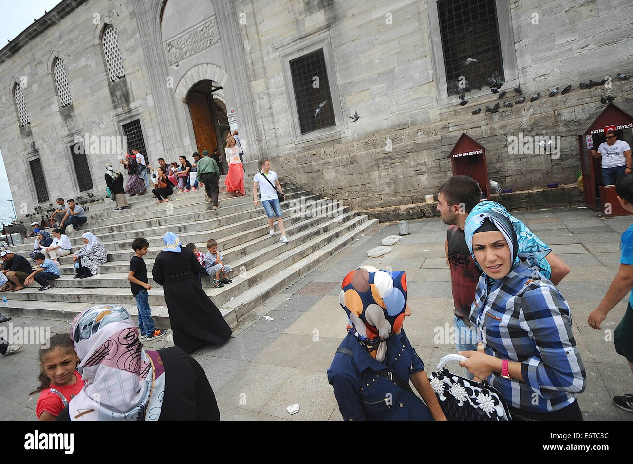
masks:
{"label": "dark red kiosk with man in white T-shirt standing inside", "polygon": [[624,110],[609,103],[591,113],[580,127],[578,134],[585,205],[596,211],[601,210],[605,216],[626,216],[630,213],[618,202],[615,186],[604,185],[601,158],[592,157],[591,150],[598,150],[600,144],[606,141],[606,127],[615,127],[618,140],[624,140],[631,146],[633,117],[630,114],[632,112],[632,108],[628,106]]}

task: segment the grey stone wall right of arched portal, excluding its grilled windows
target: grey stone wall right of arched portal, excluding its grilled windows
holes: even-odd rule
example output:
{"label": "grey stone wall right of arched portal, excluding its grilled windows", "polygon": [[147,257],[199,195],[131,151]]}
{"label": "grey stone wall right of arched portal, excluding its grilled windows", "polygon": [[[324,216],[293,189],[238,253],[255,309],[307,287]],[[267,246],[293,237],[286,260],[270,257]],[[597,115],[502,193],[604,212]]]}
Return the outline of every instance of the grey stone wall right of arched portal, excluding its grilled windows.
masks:
{"label": "grey stone wall right of arched portal, excluding its grilled windows", "polygon": [[[253,0],[242,27],[249,47],[249,78],[256,99],[265,155],[284,180],[311,186],[357,208],[422,202],[451,175],[449,151],[462,132],[487,152],[490,178],[522,190],[546,183],[573,183],[580,170],[577,132],[586,117],[612,94],[615,104],[631,101],[632,81],[615,79],[610,91],[580,90],[579,82],[606,74],[633,74],[633,4],[627,1],[543,1],[510,3],[518,83],[527,100],[498,113],[485,113],[496,94],[474,89],[467,106],[438,96],[432,60],[428,4],[401,1],[399,8],[367,1],[280,3]],[[532,23],[534,13],[539,24]],[[385,18],[392,15],[392,24]],[[300,44],[310,31],[329,30],[344,118],[334,136],[298,143],[282,75],[288,43]],[[549,89],[565,96],[548,98]],[[519,98],[509,90],[503,101]],[[291,98],[291,97],[290,97]],[[472,110],[482,108],[478,115]],[[560,136],[560,158],[548,153],[510,154],[508,136]],[[391,141],[392,151],[387,150]]]}

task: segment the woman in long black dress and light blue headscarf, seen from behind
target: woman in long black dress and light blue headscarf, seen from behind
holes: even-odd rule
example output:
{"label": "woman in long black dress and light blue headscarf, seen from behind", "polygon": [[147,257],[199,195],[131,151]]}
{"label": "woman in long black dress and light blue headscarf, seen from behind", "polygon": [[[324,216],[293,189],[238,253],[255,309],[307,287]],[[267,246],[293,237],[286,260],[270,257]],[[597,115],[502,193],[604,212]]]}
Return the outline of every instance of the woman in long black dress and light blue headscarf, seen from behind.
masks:
{"label": "woman in long black dress and light blue headscarf, seen from behind", "polygon": [[173,330],[173,343],[190,353],[197,347],[229,340],[232,330],[218,307],[200,288],[201,272],[196,255],[180,246],[175,233],[163,236],[165,248],[156,257],[152,276],[163,286],[165,304]]}

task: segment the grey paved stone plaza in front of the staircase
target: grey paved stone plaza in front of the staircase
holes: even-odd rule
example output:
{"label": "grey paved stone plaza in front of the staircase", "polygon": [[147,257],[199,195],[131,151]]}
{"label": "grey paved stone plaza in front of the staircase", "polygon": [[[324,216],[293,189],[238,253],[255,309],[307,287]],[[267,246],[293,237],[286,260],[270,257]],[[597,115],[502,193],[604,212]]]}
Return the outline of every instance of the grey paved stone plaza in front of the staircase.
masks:
{"label": "grey paved stone plaza in front of the staircase", "polygon": [[[515,214],[571,267],[558,288],[568,300],[573,334],[587,371],[587,389],[578,396],[584,419],[633,420],[633,415],[611,403],[611,396],[630,389],[631,373],[613,342],[605,340],[606,331],[615,329],[622,318],[626,300],[603,323],[605,332],[587,325],[587,316],[617,273],[620,234],[631,219],[596,218],[595,212],[575,207]],[[404,327],[427,373],[434,370],[444,354],[454,352],[454,345],[444,339],[445,328],[453,325],[444,258],[446,227],[440,219],[409,222],[411,234],[389,254],[368,258],[366,250],[398,233],[395,224],[380,224],[241,319],[227,344],[196,351],[193,356],[216,392],[222,420],[341,420],[325,372],[346,335],[347,318],[338,296],[342,278],[362,264],[406,271],[413,314]],[[164,307],[152,310],[158,318],[165,312]],[[14,316],[11,322],[49,326],[52,333],[68,330],[67,321]],[[154,349],[167,345],[170,342],[164,338],[147,344]],[[27,392],[37,386],[37,347],[26,345],[1,361],[3,418],[35,420],[37,398]],[[289,415],[286,408],[294,403],[299,403],[299,413]]]}

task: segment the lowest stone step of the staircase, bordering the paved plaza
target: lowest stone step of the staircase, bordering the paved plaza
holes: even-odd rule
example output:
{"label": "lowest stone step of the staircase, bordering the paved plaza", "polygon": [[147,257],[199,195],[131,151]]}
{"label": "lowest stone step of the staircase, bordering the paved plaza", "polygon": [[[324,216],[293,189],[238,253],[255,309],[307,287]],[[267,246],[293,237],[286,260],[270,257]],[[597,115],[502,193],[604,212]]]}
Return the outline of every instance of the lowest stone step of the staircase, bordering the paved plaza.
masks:
{"label": "lowest stone step of the staircase, bordering the paved plaza", "polygon": [[[234,325],[238,319],[241,319],[245,314],[252,311],[259,306],[262,302],[272,297],[275,293],[289,287],[292,283],[299,280],[305,274],[318,267],[329,257],[342,250],[350,243],[353,243],[356,238],[366,234],[368,231],[378,225],[377,219],[371,219],[362,222],[356,228],[353,228],[343,235],[339,236],[332,242],[328,243],[325,247],[320,247],[308,256],[304,257],[300,261],[296,262],[292,266],[285,268],[284,270],[273,274],[268,279],[257,283],[253,287],[249,288],[246,292],[241,293],[234,299],[229,301],[218,309],[223,318],[229,325]],[[232,284],[230,284],[232,285]],[[47,290],[51,292],[54,289]],[[117,289],[118,290],[118,289]],[[24,292],[25,290],[22,290]],[[127,289],[129,292],[129,290]],[[20,292],[16,292],[20,293]],[[72,321],[72,319],[80,314],[85,309],[93,306],[94,304],[103,304],[104,302],[114,304],[115,302],[110,300],[110,294],[103,295],[103,299],[94,302],[65,302],[60,304],[50,300],[9,300],[8,305],[4,307],[3,313],[12,316],[30,316],[39,317],[51,320],[65,320]],[[127,309],[128,313],[132,316],[135,322],[138,321],[137,308],[134,303],[123,304],[123,307]],[[170,328],[169,315],[166,306],[159,306],[154,304],[151,307],[152,317],[156,326],[160,328]]]}

